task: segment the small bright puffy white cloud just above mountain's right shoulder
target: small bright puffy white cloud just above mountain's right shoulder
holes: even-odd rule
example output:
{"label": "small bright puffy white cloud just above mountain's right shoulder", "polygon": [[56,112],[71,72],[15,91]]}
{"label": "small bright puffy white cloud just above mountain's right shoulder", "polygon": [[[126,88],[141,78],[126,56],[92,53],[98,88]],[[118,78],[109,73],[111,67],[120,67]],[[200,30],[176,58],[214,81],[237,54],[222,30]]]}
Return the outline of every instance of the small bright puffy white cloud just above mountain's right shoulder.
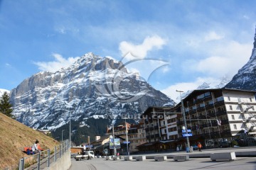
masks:
{"label": "small bright puffy white cloud just above mountain's right shoulder", "polygon": [[[154,35],[151,37],[146,37],[141,45],[134,45],[131,42],[122,41],[119,44],[119,50],[122,53],[122,56],[127,57],[128,60],[134,59],[144,59],[147,55],[147,52],[153,48],[161,49],[163,45],[166,44],[166,40]],[[128,53],[132,55],[127,56]]]}

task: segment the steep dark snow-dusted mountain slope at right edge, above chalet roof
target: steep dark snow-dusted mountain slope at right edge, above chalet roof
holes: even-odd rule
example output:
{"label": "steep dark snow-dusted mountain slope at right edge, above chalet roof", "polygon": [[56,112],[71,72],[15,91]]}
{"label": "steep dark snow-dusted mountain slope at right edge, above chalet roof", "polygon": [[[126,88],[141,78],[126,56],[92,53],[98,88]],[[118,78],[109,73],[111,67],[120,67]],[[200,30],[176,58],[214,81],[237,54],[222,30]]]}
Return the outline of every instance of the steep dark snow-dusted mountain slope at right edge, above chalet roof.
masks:
{"label": "steep dark snow-dusted mountain slope at right edge, above chalet roof", "polygon": [[225,88],[256,91],[256,29],[250,60],[235,74]]}

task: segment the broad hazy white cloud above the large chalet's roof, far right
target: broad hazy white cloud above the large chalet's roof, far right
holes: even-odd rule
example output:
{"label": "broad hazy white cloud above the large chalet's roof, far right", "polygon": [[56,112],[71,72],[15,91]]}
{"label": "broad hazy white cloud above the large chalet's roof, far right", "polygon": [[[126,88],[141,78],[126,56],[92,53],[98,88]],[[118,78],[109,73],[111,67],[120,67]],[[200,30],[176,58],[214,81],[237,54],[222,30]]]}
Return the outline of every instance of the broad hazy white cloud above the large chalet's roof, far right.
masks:
{"label": "broad hazy white cloud above the large chalet's roof, far right", "polygon": [[233,76],[249,60],[251,50],[251,44],[225,42],[225,45],[206,48],[205,54],[208,57],[204,59],[184,61],[183,71],[201,72],[212,77],[222,77],[225,74]]}

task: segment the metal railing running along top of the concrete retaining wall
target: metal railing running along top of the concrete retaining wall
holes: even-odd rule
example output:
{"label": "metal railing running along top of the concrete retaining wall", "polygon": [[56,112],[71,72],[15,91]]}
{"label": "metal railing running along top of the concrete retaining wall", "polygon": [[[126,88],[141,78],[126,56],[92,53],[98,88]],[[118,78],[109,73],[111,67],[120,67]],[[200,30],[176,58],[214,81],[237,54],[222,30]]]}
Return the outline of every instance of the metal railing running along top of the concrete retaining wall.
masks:
{"label": "metal railing running along top of the concrete retaining wall", "polygon": [[68,151],[69,147],[69,141],[66,140],[63,143],[60,143],[60,145],[55,146],[54,150],[52,151],[53,153],[50,152],[50,149],[47,149],[37,154],[21,158],[18,162],[18,170],[39,170],[49,167],[51,163],[57,162],[57,160]]}

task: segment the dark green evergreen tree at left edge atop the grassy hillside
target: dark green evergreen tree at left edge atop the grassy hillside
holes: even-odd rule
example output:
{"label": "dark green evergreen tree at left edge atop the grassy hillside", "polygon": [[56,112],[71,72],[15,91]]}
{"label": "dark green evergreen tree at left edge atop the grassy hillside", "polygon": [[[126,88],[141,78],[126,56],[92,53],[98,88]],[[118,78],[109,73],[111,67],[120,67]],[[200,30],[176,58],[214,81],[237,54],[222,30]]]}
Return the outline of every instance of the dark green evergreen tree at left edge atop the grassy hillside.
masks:
{"label": "dark green evergreen tree at left edge atop the grassy hillside", "polygon": [[13,109],[11,108],[12,105],[9,102],[9,99],[9,94],[5,91],[0,98],[0,113],[4,113],[10,118],[14,118],[14,115],[11,114],[13,112]]}

